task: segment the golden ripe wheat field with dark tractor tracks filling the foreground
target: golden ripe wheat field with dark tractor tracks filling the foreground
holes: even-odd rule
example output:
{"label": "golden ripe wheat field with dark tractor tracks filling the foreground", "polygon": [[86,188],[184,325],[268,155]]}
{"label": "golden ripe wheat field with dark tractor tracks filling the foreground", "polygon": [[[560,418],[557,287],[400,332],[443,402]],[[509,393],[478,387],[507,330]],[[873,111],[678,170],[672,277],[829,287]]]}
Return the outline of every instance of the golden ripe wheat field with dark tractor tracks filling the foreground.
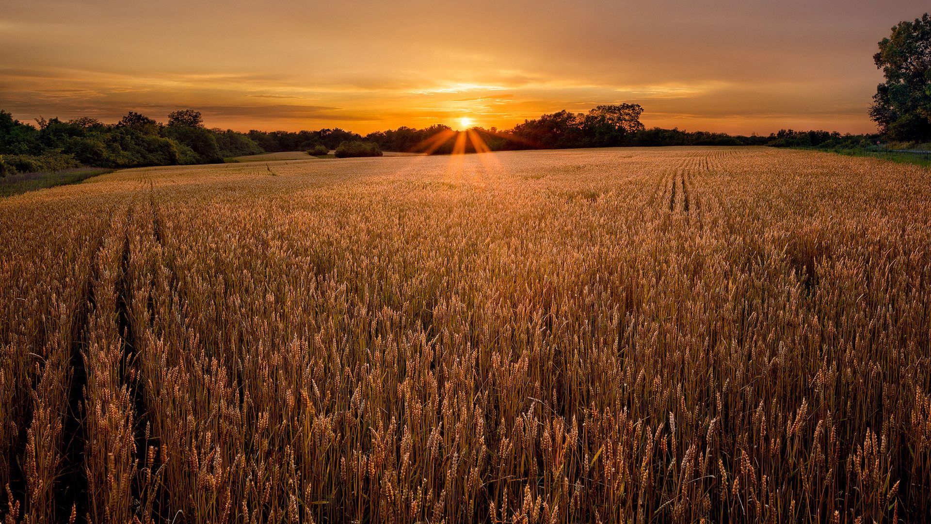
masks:
{"label": "golden ripe wheat field with dark tractor tracks filling the foreground", "polygon": [[931,514],[928,169],[282,159],[0,200],[0,516]]}

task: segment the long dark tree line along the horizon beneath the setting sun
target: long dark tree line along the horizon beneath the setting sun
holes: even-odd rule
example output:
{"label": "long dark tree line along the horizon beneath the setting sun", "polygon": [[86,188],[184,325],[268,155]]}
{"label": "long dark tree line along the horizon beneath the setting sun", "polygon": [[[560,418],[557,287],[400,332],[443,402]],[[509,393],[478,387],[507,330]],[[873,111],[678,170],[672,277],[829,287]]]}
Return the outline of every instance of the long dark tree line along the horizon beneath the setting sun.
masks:
{"label": "long dark tree line along the horizon beneath the setting sun", "polygon": [[525,120],[499,131],[480,127],[460,131],[445,125],[425,129],[400,127],[361,136],[342,129],[318,131],[249,131],[208,129],[194,109],[169,115],[167,124],[130,111],[115,124],[91,117],[69,120],[38,118],[20,122],[0,110],[0,175],[55,172],[75,167],[128,168],[223,162],[245,155],[307,151],[338,157],[378,156],[381,151],[461,152],[657,145],[775,145],[851,147],[869,145],[874,135],[829,131],[783,130],[769,136],[708,131],[647,129],[636,103],[600,105],[587,114],[560,111]]}

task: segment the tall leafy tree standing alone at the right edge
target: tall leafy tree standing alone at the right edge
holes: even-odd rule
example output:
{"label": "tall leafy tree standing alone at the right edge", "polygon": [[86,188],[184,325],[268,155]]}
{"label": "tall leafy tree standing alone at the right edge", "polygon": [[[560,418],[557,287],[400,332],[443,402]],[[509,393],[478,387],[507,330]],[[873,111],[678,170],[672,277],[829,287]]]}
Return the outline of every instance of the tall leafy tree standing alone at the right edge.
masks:
{"label": "tall leafy tree standing alone at the right edge", "polygon": [[873,55],[885,83],[876,88],[870,118],[895,140],[931,140],[931,17],[901,21]]}

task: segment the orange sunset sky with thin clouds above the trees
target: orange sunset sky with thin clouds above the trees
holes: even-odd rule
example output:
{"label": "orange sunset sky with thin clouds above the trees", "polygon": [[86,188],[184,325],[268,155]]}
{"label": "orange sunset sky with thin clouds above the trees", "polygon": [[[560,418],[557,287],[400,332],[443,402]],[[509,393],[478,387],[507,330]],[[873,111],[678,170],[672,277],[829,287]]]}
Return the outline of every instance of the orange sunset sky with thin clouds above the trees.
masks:
{"label": "orange sunset sky with thin clouds above the trees", "polygon": [[510,128],[640,103],[647,127],[874,131],[876,43],[923,1],[0,0],[0,108],[237,131]]}

